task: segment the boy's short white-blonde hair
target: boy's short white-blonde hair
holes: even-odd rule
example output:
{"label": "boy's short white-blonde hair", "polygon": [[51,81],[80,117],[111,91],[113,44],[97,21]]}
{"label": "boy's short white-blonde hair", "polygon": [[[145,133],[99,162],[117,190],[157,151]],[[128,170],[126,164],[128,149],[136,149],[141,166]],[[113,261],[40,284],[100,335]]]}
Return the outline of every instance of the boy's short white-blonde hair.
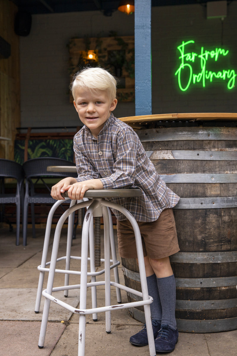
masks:
{"label": "boy's short white-blonde hair", "polygon": [[100,67],[86,67],[77,72],[70,85],[72,96],[75,100],[75,91],[78,88],[90,90],[104,90],[107,92],[109,99],[113,101],[116,98],[117,80],[106,69]]}

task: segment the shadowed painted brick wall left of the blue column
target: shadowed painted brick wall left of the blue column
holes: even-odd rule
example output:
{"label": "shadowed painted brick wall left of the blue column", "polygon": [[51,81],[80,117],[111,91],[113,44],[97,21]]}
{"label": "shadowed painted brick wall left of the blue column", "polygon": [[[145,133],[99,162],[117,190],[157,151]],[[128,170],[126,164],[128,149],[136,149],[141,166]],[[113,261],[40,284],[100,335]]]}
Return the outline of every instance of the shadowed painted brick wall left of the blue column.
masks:
{"label": "shadowed painted brick wall left of the blue column", "polygon": [[[134,16],[116,11],[106,17],[97,11],[33,15],[29,36],[21,37],[21,127],[77,126],[69,103],[68,72],[70,38],[134,35]],[[124,103],[117,116],[135,115],[135,104]]]}

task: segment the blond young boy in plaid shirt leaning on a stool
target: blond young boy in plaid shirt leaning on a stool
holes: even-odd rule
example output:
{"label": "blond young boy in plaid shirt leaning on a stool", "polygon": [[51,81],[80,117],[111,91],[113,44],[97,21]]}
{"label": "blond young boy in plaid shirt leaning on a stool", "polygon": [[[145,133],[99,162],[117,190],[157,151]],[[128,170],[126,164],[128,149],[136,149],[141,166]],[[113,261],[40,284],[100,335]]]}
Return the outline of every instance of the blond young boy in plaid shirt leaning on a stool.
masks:
{"label": "blond young boy in plaid shirt leaning on a stool", "polygon": [[[71,84],[74,106],[84,124],[74,137],[78,178],[65,178],[52,188],[54,199],[82,199],[88,189],[135,188],[136,198],[108,198],[123,205],[138,222],[144,252],[156,352],[171,352],[178,341],[175,319],[176,285],[169,256],[179,251],[172,207],[179,197],[166,187],[147,158],[134,130],[116,119],[116,80],[102,68],[85,68]],[[136,258],[133,229],[117,217],[119,255]],[[130,337],[136,346],[148,345],[146,325]]]}

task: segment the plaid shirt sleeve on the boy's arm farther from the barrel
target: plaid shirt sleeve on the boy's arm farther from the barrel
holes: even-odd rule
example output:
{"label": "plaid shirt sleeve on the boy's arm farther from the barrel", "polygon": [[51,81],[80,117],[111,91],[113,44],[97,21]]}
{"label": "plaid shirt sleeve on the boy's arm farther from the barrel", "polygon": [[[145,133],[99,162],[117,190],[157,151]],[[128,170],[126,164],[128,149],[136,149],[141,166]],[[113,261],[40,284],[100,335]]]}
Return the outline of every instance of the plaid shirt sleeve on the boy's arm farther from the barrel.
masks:
{"label": "plaid shirt sleeve on the boy's arm farther from the barrel", "polygon": [[76,178],[77,182],[101,178],[100,174],[96,172],[95,167],[93,167],[90,160],[81,153],[75,142],[73,149],[75,152],[76,169],[78,174],[78,177]]}

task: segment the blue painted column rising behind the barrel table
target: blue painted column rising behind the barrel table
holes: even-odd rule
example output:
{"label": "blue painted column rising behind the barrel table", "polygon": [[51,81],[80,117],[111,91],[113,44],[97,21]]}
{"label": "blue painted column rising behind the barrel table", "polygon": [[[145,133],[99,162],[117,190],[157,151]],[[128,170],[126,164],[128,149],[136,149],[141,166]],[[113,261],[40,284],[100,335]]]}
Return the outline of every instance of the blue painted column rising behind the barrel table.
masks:
{"label": "blue painted column rising behind the barrel table", "polygon": [[135,0],[135,113],[151,115],[151,0]]}

